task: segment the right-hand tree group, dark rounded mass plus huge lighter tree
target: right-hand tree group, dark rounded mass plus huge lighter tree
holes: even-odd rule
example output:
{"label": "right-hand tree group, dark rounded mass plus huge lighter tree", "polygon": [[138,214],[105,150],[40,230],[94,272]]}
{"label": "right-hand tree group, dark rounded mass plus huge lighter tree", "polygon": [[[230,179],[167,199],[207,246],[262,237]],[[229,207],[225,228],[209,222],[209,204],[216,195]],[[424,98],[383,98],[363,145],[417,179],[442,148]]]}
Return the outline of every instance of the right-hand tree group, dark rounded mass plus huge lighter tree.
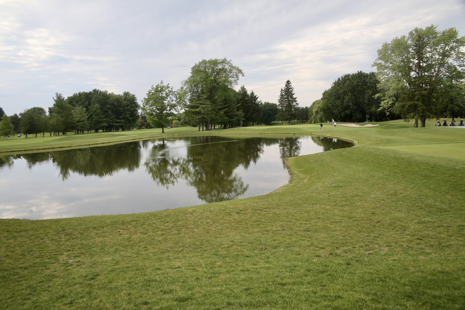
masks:
{"label": "right-hand tree group, dark rounded mass plus huge lighter tree", "polygon": [[465,116],[465,37],[455,28],[415,28],[378,50],[376,73],[345,74],[309,109],[311,122]]}

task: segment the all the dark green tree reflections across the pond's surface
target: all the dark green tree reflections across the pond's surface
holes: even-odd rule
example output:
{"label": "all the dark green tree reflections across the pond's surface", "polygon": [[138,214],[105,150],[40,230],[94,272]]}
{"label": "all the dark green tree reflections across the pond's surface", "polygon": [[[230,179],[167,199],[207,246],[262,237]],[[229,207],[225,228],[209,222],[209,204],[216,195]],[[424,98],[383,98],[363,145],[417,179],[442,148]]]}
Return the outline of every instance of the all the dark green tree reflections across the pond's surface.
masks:
{"label": "all the dark green tree reflections across the pond's surface", "polygon": [[[336,144],[333,139],[323,137],[312,137],[312,140],[322,145],[325,151],[339,148],[341,143],[347,144],[345,147],[351,145],[345,141]],[[237,198],[246,193],[249,185],[244,184],[237,173],[238,167],[247,170],[258,162],[265,146],[275,144],[278,144],[281,162],[286,169],[286,159],[300,154],[302,143],[299,137],[233,140],[203,136],[143,140],[67,151],[1,156],[0,168],[11,167],[13,159],[24,158],[29,169],[52,161],[58,166],[62,180],[66,180],[71,173],[105,177],[119,170],[131,172],[138,169],[141,150],[150,148],[144,166],[156,185],[168,189],[179,180],[184,180],[195,188],[199,199],[210,203]]]}

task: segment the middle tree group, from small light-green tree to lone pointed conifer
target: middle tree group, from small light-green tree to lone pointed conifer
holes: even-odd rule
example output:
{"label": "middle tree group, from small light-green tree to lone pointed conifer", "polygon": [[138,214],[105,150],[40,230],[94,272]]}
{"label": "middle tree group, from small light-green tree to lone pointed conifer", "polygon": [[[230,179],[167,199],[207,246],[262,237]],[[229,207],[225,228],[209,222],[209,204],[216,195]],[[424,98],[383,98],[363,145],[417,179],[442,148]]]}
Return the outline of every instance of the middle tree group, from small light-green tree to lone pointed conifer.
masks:
{"label": "middle tree group, from small light-green tree to lone pointed conifer", "polygon": [[[178,125],[189,124],[210,131],[265,124],[275,120],[308,120],[308,107],[300,107],[291,81],[281,89],[278,104],[259,100],[245,86],[238,90],[243,71],[228,59],[203,59],[191,68],[190,76],[174,90],[163,80],[152,86],[142,100],[142,113],[151,126],[164,128],[177,118]],[[180,113],[180,111],[183,111]],[[176,121],[175,120],[175,121]]]}

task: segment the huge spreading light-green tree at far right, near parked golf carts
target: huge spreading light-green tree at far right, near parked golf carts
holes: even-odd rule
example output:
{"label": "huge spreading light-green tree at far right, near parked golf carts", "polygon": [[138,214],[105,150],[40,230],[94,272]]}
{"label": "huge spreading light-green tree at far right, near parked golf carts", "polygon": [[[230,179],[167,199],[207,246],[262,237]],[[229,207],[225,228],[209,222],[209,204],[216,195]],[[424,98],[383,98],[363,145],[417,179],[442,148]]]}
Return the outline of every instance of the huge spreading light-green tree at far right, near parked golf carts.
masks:
{"label": "huge spreading light-green tree at far right, near parked golf carts", "polygon": [[383,105],[425,127],[427,118],[441,112],[441,89],[465,76],[464,46],[455,28],[439,32],[434,25],[383,44],[373,63],[385,90]]}

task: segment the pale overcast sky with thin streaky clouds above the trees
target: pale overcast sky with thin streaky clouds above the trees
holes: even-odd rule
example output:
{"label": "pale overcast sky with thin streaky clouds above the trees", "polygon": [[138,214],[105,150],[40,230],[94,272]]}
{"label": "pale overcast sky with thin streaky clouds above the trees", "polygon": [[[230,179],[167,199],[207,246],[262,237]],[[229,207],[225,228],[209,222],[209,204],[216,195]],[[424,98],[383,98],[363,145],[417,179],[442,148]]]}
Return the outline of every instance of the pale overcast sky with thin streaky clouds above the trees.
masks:
{"label": "pale overcast sky with thin streaky clouds above the trees", "polygon": [[141,100],[202,59],[227,58],[239,86],[277,102],[286,80],[310,106],[346,73],[374,71],[384,42],[415,27],[465,35],[465,0],[0,0],[0,107],[47,109],[94,88]]}

